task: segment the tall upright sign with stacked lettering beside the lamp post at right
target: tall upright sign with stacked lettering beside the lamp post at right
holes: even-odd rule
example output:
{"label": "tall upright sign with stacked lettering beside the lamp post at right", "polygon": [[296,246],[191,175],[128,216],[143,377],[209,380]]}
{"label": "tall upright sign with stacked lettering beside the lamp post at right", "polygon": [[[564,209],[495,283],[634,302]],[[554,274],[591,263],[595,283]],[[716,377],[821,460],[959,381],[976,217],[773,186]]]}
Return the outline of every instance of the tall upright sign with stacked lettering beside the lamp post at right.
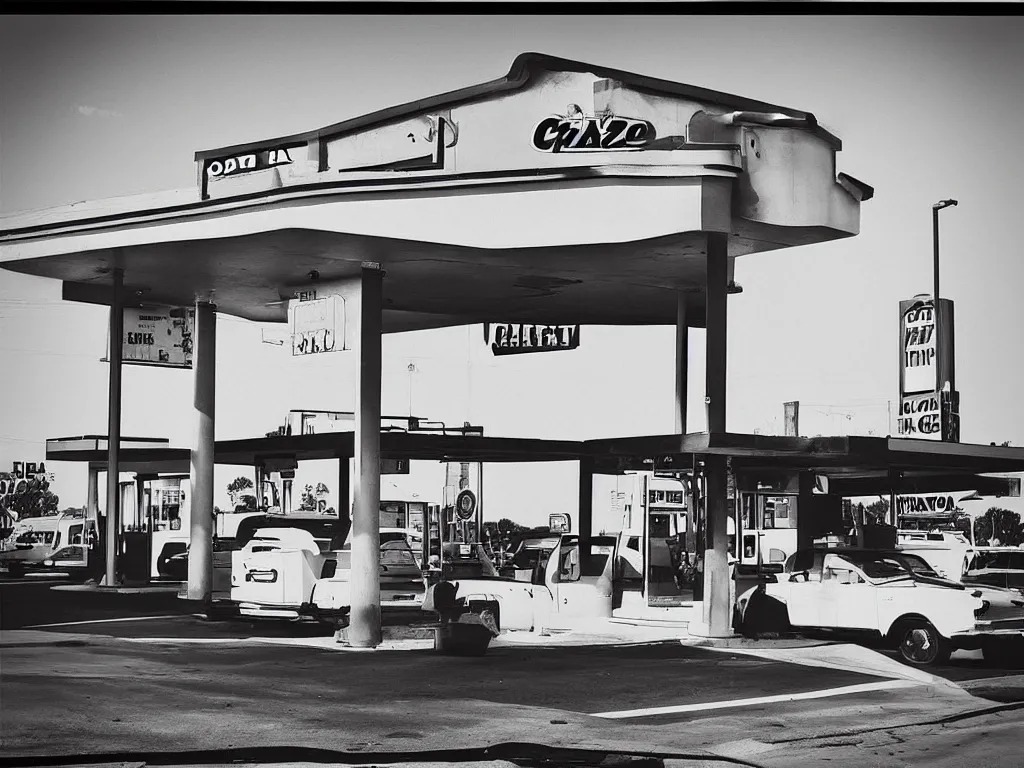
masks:
{"label": "tall upright sign with stacked lettering beside the lamp post at right", "polygon": [[953,357],[953,303],[931,296],[901,301],[899,434],[959,442],[959,392]]}

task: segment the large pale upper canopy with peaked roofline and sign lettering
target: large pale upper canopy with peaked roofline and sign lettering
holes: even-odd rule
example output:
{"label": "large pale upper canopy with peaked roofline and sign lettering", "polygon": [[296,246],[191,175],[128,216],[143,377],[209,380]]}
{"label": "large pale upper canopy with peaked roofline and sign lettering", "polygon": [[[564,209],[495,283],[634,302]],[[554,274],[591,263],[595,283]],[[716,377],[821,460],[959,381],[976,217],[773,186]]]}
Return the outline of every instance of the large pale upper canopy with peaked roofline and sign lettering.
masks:
{"label": "large pale upper canopy with peaked roofline and sign lettering", "polygon": [[[524,53],[498,80],[196,154],[195,188],[0,220],[0,265],[74,301],[286,322],[311,281],[385,270],[383,330],[705,326],[708,232],[743,254],[848,238],[869,186],[805,112]],[[798,183],[799,180],[799,183]]]}

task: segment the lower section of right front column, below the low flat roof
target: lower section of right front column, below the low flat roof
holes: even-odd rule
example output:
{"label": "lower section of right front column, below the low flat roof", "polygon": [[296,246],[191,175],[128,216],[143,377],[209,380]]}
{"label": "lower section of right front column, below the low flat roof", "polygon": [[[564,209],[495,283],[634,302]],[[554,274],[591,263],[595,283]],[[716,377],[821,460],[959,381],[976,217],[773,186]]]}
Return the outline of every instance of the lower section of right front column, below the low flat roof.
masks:
{"label": "lower section of right front column, below the low flat roof", "polygon": [[732,605],[729,571],[729,505],[724,456],[705,459],[708,495],[705,500],[706,544],[703,557],[703,629],[708,637],[732,634]]}

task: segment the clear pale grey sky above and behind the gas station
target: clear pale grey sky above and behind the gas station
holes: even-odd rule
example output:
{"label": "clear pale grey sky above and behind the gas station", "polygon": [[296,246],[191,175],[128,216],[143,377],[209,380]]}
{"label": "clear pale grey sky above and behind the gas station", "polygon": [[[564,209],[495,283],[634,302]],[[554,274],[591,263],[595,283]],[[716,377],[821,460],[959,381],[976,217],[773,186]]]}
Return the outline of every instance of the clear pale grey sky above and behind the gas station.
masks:
{"label": "clear pale grey sky above and behind the gas station", "polygon": [[[803,434],[896,432],[899,301],[931,291],[931,207],[955,198],[941,281],[962,439],[1024,445],[1022,35],[1024,18],[996,16],[4,16],[0,214],[189,187],[198,150],[488,81],[527,50],[736,93],[813,113],[843,140],[838,170],[876,195],[855,238],[738,259],[728,429],[781,433],[782,403],[800,400]],[[56,282],[0,270],[0,467],[43,460],[48,437],[105,434],[106,321],[60,301]],[[220,315],[218,439],[261,435],[290,409],[352,409],[350,355],[264,343],[284,330]],[[412,402],[503,436],[670,433],[674,333],[586,327],[578,350],[518,358],[490,356],[479,326],[390,335],[382,410]],[[690,355],[688,431],[700,431],[700,331]],[[123,434],[186,446],[190,415],[189,372],[126,367]],[[84,469],[48,469],[61,506],[84,503]],[[218,468],[221,506],[236,474]],[[335,477],[322,463],[299,482],[334,489]],[[417,467],[383,492],[436,498],[440,477]],[[575,508],[571,464],[488,468],[486,483],[488,519]]]}

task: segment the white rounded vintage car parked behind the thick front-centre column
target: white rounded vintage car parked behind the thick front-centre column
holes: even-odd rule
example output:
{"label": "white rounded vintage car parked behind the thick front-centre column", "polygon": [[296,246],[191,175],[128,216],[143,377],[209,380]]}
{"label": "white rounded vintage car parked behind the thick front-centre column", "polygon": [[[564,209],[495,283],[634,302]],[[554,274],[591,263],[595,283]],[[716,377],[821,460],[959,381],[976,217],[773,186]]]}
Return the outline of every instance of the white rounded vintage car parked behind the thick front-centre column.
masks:
{"label": "white rounded vintage car parked behind the thick front-centre column", "polygon": [[[349,609],[351,548],[301,528],[260,528],[232,553],[231,601],[248,618],[314,618],[345,624]],[[380,554],[382,602],[414,604],[423,574],[404,538],[384,541]]]}

